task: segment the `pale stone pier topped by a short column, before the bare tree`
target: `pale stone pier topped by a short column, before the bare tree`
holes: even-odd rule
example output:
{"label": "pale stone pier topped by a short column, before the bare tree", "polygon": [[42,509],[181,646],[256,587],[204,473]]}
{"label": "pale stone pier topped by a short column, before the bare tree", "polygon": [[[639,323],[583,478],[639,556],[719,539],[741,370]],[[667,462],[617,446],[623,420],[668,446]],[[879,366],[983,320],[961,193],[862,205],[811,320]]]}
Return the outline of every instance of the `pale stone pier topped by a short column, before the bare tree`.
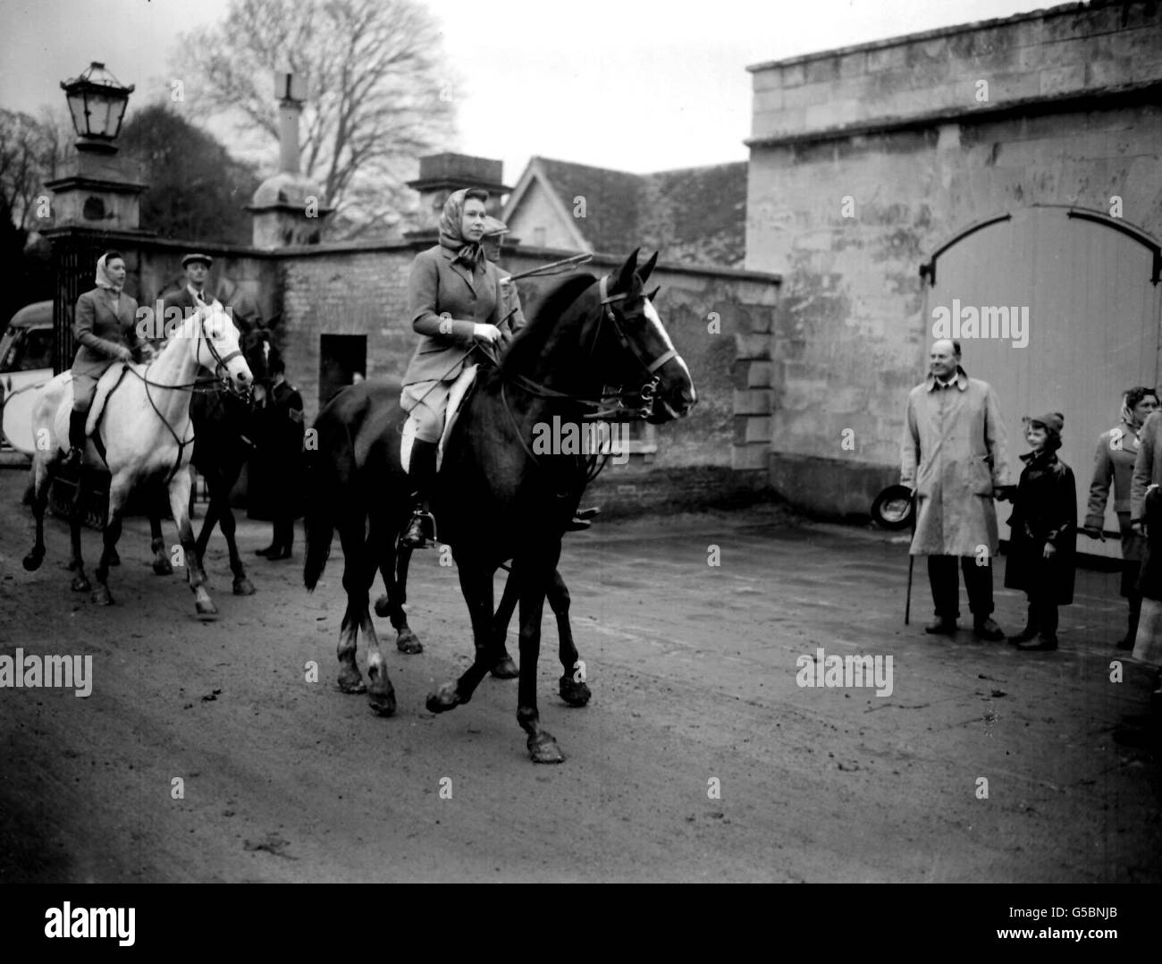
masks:
{"label": "pale stone pier topped by a short column, before the bare tree", "polygon": [[271,249],[318,244],[333,208],[323,207],[322,190],[299,173],[299,116],[307,100],[304,78],[277,71],[274,95],[279,99],[279,172],[258,185],[246,205],[254,219],[253,245]]}

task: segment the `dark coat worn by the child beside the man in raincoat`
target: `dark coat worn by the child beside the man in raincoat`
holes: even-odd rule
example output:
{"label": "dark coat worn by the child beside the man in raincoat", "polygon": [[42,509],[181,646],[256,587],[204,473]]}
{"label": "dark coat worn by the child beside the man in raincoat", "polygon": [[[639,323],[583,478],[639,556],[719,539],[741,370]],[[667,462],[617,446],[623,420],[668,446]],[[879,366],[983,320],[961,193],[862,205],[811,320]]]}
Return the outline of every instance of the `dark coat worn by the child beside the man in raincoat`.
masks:
{"label": "dark coat worn by the child beside the man in raincoat", "polygon": [[[1077,485],[1074,471],[1056,452],[1021,456],[1025,471],[1017,484],[1009,519],[1009,562],[1005,586],[1032,595],[1047,595],[1059,606],[1074,601],[1077,555]],[[1057,550],[1043,556],[1045,544]]]}

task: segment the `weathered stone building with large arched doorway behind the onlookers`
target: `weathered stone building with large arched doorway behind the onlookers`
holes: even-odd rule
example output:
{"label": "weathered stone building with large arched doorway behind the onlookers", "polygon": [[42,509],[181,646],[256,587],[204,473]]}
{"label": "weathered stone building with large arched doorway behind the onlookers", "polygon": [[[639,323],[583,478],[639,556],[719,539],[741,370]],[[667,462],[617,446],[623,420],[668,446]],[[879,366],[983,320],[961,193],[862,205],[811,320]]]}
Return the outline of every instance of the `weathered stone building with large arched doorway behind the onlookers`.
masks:
{"label": "weathered stone building with large arched doorway behind the onlookers", "polygon": [[1061,410],[1085,490],[1121,392],[1159,383],[1162,5],[1070,3],[748,70],[746,266],[783,278],[775,488],[866,513],[898,479],[933,326],[959,308],[991,322],[963,335],[964,367],[998,392],[1010,460],[1023,414]]}

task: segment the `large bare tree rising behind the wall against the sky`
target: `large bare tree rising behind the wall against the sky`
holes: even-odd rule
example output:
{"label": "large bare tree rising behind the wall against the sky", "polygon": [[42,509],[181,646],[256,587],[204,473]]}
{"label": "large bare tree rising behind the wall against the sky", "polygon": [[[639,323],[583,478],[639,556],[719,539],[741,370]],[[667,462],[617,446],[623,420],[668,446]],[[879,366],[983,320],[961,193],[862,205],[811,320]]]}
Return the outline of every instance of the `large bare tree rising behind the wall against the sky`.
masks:
{"label": "large bare tree rising behind the wall against the sky", "polygon": [[390,227],[409,203],[401,165],[445,147],[453,117],[439,33],[414,0],[235,0],[224,22],[181,38],[186,85],[210,114],[278,140],[275,70],[307,78],[303,173],[347,234]]}

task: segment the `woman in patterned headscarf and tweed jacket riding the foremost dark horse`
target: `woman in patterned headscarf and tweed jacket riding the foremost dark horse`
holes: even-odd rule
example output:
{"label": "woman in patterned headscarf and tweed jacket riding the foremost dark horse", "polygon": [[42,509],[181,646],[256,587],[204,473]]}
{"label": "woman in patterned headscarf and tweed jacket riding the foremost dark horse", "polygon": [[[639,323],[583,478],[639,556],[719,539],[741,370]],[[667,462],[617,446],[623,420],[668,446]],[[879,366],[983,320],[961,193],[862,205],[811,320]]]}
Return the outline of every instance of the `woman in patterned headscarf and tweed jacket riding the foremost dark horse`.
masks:
{"label": "woman in patterned headscarf and tweed jacket riding the foremost dark horse", "polygon": [[435,536],[425,507],[452,384],[466,364],[479,360],[467,357],[473,345],[498,348],[511,334],[500,274],[480,243],[487,201],[488,193],[476,188],[449,195],[439,220],[439,244],[416,255],[408,279],[411,327],[422,335],[400,398],[415,431],[407,469],[416,500],[401,542],[414,549],[429,545]]}

